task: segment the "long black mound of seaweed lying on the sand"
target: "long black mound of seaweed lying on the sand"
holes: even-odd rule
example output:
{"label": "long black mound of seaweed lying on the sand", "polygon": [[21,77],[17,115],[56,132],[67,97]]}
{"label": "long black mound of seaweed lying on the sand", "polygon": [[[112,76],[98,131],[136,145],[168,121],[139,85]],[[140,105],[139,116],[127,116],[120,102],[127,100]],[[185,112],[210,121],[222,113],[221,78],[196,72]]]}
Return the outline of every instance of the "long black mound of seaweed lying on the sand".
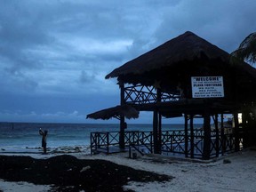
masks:
{"label": "long black mound of seaweed lying on the sand", "polygon": [[[84,172],[81,170],[84,168]],[[129,181],[167,181],[172,178],[144,172],[104,160],[81,160],[75,156],[34,159],[0,156],[0,178],[52,185],[51,191],[123,191]],[[1,188],[0,188],[1,191]]]}

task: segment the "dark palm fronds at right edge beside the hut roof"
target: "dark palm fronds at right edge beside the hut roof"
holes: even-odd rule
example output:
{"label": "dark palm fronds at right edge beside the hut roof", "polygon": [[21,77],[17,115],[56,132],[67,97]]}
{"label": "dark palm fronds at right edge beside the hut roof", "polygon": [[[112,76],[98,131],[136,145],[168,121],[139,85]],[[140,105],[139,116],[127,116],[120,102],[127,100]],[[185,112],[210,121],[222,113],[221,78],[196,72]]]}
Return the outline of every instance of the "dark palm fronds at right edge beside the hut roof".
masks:
{"label": "dark palm fronds at right edge beside the hut roof", "polygon": [[231,53],[232,56],[238,60],[247,60],[248,62],[256,62],[256,32],[246,36],[244,41],[239,45],[235,52]]}

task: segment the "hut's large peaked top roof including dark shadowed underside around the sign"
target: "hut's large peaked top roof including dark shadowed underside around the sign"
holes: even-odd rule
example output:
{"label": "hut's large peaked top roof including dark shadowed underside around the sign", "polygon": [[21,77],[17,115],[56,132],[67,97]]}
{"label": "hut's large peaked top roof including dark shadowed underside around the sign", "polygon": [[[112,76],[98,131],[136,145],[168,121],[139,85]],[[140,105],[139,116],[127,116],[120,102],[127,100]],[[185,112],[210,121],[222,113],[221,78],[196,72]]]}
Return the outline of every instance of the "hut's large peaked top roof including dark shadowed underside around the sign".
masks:
{"label": "hut's large peaked top roof including dark shadowed underside around the sign", "polygon": [[256,86],[255,68],[190,31],[126,62],[106,78],[117,77],[128,84],[156,85],[164,92],[177,93],[178,85],[188,89],[191,76],[224,76],[228,98]]}

